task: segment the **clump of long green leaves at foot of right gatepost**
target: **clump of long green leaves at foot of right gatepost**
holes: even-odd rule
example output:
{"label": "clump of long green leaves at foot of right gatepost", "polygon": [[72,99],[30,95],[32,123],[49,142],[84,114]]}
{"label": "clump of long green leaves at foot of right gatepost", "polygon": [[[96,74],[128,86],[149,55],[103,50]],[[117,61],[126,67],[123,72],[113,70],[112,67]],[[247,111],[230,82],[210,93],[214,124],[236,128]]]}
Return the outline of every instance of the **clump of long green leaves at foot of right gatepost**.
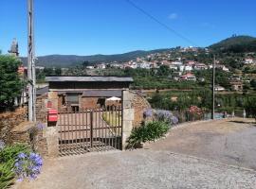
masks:
{"label": "clump of long green leaves at foot of right gatepost", "polygon": [[132,130],[130,137],[128,138],[127,148],[138,147],[141,143],[148,141],[155,141],[155,139],[163,137],[170,129],[166,122],[149,122],[139,128]]}

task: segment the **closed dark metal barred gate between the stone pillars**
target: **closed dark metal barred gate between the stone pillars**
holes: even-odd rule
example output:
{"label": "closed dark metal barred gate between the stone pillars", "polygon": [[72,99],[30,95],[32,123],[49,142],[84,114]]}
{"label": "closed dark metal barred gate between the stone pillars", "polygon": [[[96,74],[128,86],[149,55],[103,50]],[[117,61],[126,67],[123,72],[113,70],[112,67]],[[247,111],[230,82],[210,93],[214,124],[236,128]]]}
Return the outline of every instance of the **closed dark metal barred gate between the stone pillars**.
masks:
{"label": "closed dark metal barred gate between the stone pillars", "polygon": [[122,149],[121,117],[121,108],[115,106],[108,109],[60,112],[60,154]]}

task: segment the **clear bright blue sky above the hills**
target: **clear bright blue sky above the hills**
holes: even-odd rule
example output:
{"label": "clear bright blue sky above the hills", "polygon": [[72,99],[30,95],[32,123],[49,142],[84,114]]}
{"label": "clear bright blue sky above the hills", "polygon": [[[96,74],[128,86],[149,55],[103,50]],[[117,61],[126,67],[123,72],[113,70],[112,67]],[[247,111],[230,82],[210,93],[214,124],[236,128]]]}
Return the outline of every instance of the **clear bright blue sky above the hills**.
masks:
{"label": "clear bright blue sky above the hills", "polygon": [[[127,1],[34,0],[36,56],[119,54],[208,46],[233,34],[256,37],[255,0],[130,0],[140,10]],[[3,54],[13,38],[27,56],[27,0],[0,0]]]}

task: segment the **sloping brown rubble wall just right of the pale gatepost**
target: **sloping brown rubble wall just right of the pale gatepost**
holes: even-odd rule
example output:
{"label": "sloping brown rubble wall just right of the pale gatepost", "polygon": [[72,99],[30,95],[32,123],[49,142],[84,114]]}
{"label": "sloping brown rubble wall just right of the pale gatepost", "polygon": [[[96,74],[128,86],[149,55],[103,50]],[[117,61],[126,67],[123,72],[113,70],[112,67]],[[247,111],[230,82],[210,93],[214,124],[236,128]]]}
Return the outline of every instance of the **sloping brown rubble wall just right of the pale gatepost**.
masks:
{"label": "sloping brown rubble wall just right of the pale gatepost", "polygon": [[143,112],[145,112],[147,109],[151,109],[151,106],[147,99],[142,96],[142,94],[138,94],[137,92],[133,91],[131,91],[131,93],[135,94],[132,102],[135,109],[135,120],[133,125],[134,127],[139,127],[143,121]]}

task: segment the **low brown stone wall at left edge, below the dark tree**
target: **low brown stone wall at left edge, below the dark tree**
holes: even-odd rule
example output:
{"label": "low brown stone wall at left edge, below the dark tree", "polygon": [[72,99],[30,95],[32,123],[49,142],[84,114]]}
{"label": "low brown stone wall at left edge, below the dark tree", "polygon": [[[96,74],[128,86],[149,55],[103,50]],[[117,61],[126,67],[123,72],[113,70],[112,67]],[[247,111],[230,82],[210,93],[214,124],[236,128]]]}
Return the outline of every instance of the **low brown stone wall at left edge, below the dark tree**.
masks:
{"label": "low brown stone wall at left edge, below the dark tree", "polygon": [[27,107],[0,114],[0,139],[11,144],[10,130],[27,121]]}

